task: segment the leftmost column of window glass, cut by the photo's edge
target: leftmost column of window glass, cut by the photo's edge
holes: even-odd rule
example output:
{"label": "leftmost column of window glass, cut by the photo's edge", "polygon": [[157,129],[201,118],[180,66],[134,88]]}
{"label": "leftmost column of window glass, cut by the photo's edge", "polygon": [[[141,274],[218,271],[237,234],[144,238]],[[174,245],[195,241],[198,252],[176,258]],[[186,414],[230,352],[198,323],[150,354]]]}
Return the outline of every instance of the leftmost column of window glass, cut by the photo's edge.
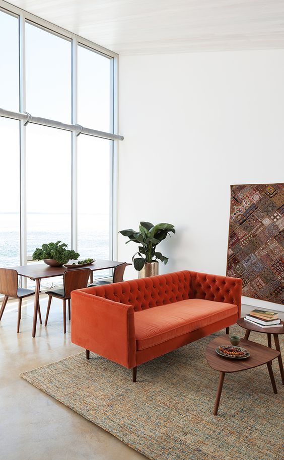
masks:
{"label": "leftmost column of window glass, cut by the photo's edge", "polygon": [[[0,10],[0,107],[20,110],[19,19]],[[20,122],[0,117],[0,266],[21,261]]]}

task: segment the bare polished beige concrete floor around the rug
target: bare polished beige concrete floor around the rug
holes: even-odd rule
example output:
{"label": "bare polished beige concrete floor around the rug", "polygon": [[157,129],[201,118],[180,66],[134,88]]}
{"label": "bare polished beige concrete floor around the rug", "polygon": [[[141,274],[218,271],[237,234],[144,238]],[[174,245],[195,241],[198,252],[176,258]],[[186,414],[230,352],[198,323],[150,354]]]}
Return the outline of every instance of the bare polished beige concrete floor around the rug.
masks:
{"label": "bare polished beige concrete floor around the rug", "polygon": [[[43,322],[46,296],[41,296]],[[243,306],[242,314],[251,308]],[[145,458],[111,434],[19,377],[82,349],[62,327],[62,303],[51,304],[47,328],[33,339],[33,303],[23,302],[20,334],[17,303],[8,302],[0,323],[0,458],[3,460],[138,460]],[[281,315],[283,318],[284,315]],[[130,371],[125,369],[125,372]]]}

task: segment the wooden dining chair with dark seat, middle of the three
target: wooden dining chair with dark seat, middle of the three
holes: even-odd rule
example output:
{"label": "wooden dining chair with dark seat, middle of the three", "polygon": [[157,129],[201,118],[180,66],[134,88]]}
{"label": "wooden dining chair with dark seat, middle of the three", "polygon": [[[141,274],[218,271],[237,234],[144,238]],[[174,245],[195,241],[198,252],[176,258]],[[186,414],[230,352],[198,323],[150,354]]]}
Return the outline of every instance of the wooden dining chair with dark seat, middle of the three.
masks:
{"label": "wooden dining chair with dark seat, middle of the three", "polygon": [[71,292],[75,289],[83,289],[87,286],[89,276],[91,274],[90,268],[82,268],[81,270],[67,270],[63,275],[63,288],[62,289],[53,289],[52,291],[46,291],[45,293],[49,295],[46,318],[44,325],[47,326],[48,315],[51,305],[52,297],[61,298],[63,301],[63,331],[66,334],[66,300],[68,301],[68,316],[69,321],[71,319],[71,308],[70,308],[70,298]]}

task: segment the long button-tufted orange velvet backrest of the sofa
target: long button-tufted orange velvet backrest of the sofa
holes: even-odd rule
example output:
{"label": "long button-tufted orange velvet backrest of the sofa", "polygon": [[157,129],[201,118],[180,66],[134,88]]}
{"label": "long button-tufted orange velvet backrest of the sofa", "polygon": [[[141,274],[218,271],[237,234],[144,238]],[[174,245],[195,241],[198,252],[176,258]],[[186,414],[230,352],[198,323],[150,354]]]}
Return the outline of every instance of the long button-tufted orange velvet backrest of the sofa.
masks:
{"label": "long button-tufted orange velvet backrest of the sofa", "polygon": [[89,287],[84,291],[133,305],[135,312],[193,297],[190,272],[187,270]]}

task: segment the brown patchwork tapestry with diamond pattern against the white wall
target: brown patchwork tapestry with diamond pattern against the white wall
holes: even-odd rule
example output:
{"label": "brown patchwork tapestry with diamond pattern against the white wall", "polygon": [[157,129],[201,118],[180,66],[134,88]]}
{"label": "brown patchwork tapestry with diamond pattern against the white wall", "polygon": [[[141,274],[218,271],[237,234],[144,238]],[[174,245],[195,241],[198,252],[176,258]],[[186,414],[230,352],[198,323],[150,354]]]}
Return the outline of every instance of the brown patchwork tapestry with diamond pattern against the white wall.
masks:
{"label": "brown patchwork tapestry with diamond pattern against the white wall", "polygon": [[231,185],[227,275],[243,295],[284,304],[284,184]]}

